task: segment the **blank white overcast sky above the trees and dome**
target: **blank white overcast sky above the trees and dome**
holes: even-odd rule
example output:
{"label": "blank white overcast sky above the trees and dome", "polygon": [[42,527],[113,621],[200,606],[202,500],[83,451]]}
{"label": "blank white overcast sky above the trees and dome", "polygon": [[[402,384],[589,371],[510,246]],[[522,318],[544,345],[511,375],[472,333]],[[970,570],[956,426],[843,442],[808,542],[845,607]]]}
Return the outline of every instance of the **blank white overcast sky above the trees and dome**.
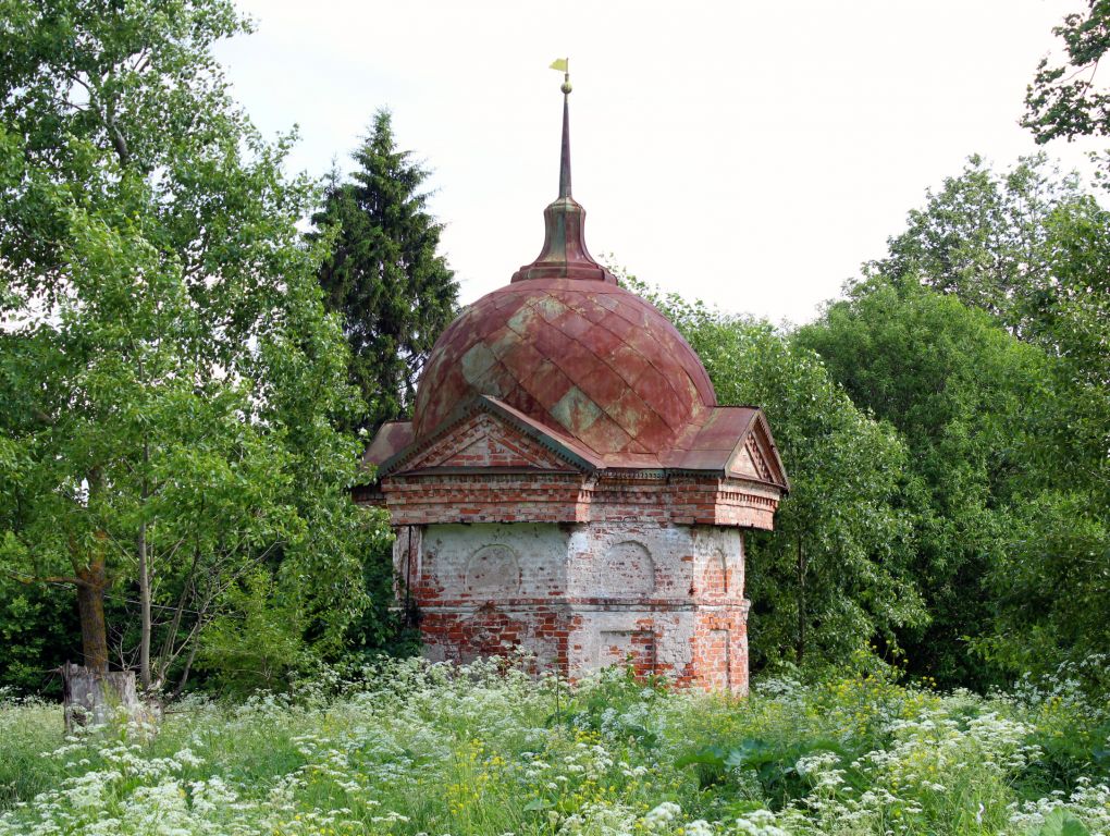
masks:
{"label": "blank white overcast sky above the trees and dome", "polygon": [[[470,302],[543,242],[571,57],[574,195],[595,256],[730,311],[805,322],[880,256],[927,187],[1018,127],[1082,0],[240,0],[218,54],[291,167],[350,168],[374,110],[433,173]],[[1052,143],[1066,168],[1094,145]]]}

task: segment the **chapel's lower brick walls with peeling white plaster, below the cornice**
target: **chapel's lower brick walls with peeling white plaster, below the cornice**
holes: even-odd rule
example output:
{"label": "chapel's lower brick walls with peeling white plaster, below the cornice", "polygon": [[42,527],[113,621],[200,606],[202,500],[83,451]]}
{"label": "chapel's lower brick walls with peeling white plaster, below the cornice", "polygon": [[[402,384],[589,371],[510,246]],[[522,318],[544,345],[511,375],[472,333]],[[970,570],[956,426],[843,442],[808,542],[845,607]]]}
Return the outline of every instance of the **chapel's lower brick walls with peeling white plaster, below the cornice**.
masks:
{"label": "chapel's lower brick walls with peeling white plaster, below the cornice", "polygon": [[538,667],[572,677],[632,664],[684,684],[747,688],[744,548],[735,528],[478,523],[406,532],[396,567],[411,580],[433,659],[522,648]]}

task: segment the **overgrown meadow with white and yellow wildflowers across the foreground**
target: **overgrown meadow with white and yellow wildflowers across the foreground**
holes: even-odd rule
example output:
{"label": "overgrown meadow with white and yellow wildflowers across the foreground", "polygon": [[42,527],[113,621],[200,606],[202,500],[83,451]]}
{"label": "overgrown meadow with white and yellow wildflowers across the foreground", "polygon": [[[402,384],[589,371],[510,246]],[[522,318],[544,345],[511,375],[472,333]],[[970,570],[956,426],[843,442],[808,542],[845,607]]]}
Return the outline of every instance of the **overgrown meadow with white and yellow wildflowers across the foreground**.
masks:
{"label": "overgrown meadow with white and yellow wildflowers across the foreground", "polygon": [[157,735],[61,729],[56,706],[0,703],[0,836],[1110,834],[1110,711],[1063,675],[731,699],[410,659],[186,701]]}

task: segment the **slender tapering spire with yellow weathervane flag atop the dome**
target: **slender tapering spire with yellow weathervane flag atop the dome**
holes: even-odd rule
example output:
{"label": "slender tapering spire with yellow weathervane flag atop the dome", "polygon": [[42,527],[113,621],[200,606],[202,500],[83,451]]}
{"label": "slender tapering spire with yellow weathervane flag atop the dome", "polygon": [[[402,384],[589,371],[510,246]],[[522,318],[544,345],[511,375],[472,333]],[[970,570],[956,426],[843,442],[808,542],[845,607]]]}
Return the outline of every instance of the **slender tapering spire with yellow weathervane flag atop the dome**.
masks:
{"label": "slender tapering spire with yellow weathervane flag atop the dome", "polygon": [[531,279],[582,279],[616,284],[586,249],[586,210],[571,197],[571,70],[561,58],[552,69],[563,70],[563,144],[559,150],[558,198],[544,210],[544,249],[531,264],[513,273],[514,282]]}

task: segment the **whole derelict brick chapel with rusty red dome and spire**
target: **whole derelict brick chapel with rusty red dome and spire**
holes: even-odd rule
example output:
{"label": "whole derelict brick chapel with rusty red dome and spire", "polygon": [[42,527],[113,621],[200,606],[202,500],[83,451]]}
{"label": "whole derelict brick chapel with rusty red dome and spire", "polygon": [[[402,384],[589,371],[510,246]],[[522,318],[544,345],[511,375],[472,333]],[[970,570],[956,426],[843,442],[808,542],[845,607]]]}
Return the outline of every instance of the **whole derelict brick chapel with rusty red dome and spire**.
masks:
{"label": "whole derelict brick chapel with rusty red dome and spire", "polygon": [[523,647],[571,677],[630,663],[743,693],[744,532],[773,527],[786,473],[763,412],[718,406],[674,325],[586,250],[569,92],[543,251],[436,342],[363,501],[390,512],[431,658]]}

